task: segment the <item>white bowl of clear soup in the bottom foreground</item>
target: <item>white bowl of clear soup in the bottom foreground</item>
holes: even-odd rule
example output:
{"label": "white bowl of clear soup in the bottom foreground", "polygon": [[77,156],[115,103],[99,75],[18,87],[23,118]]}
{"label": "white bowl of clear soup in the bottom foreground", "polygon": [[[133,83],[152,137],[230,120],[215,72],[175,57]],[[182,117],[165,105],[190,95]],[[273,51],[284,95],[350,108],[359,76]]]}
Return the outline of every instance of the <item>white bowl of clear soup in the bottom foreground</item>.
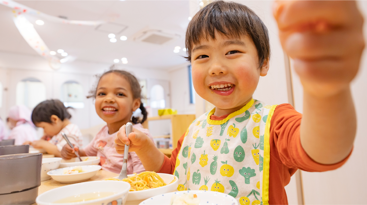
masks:
{"label": "white bowl of clear soup in the bottom foreground", "polygon": [[[68,186],[58,187],[40,194],[36,198],[38,205],[122,205],[125,204],[127,193],[130,190],[130,184],[121,181],[93,181]],[[88,194],[93,192],[113,192],[115,194],[99,199],[88,200],[84,202],[55,203],[60,199],[72,197],[79,194]]]}

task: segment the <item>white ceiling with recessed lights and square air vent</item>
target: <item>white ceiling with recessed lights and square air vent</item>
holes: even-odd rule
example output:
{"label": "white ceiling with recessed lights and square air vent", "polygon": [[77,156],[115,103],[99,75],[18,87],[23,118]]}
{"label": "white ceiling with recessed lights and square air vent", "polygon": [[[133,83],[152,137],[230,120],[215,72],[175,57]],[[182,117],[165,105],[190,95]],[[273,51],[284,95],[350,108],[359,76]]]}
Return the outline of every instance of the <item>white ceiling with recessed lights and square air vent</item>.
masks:
{"label": "white ceiling with recessed lights and square air vent", "polygon": [[[128,59],[128,66],[164,69],[185,63],[174,47],[184,47],[184,34],[188,25],[188,0],[15,0],[30,8],[49,15],[65,16],[69,20],[104,20],[127,25],[128,28],[116,35],[117,42],[111,43],[108,33],[95,30],[95,26],[63,25],[45,22],[36,25],[32,15],[26,18],[34,24],[43,41],[56,51],[63,49],[78,60],[110,63],[113,59]],[[164,45],[133,41],[131,36],[149,26],[181,35]],[[0,5],[0,51],[38,55],[19,34],[12,20],[11,9]],[[128,40],[121,41],[120,36]]]}

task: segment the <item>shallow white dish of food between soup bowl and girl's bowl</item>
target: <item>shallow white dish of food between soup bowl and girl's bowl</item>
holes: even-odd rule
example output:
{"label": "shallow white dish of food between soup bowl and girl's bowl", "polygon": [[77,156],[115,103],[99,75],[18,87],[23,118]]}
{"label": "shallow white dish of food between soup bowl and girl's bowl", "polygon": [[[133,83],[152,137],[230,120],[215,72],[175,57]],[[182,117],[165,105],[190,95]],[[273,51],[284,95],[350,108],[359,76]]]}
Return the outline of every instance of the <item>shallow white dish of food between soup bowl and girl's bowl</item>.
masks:
{"label": "shallow white dish of food between soup bowl and girl's bowl", "polygon": [[81,166],[81,168],[85,172],[76,173],[76,174],[64,174],[65,169],[69,170],[75,167],[76,166],[55,169],[55,170],[47,172],[47,175],[50,175],[52,179],[60,183],[64,183],[64,184],[76,183],[76,182],[83,182],[85,180],[90,179],[91,177],[97,174],[99,169],[102,168],[102,166],[99,166],[99,165],[84,165],[84,166]]}

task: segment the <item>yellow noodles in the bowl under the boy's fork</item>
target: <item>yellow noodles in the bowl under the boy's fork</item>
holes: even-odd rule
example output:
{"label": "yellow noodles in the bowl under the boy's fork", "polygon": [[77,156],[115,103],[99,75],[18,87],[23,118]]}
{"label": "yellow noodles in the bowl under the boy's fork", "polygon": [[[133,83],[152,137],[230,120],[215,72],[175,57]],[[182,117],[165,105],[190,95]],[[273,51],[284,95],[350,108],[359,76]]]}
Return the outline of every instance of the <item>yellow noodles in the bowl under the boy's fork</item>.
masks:
{"label": "yellow noodles in the bowl under the boy's fork", "polygon": [[[167,185],[163,181],[163,179],[159,175],[157,175],[156,172],[149,172],[149,171],[141,172],[139,174],[134,173],[134,176],[127,177],[123,180],[112,177],[105,180],[116,180],[127,182],[131,185],[130,191],[141,191]],[[175,182],[176,180],[177,180],[176,177],[174,177],[171,183]]]}

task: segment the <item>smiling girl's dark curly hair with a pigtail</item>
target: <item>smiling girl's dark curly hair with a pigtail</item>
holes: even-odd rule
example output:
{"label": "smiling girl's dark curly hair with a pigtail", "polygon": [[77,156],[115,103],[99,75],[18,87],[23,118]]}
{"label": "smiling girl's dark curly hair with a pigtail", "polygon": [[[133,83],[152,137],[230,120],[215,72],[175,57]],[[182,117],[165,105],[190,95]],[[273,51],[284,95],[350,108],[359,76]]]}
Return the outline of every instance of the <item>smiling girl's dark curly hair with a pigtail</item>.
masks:
{"label": "smiling girl's dark curly hair with a pigtail", "polygon": [[[137,99],[137,98],[142,98],[141,96],[141,87],[140,87],[140,84],[139,84],[139,81],[138,79],[131,73],[125,71],[125,70],[116,70],[116,69],[113,69],[113,66],[111,67],[112,70],[109,70],[107,72],[104,72],[102,75],[97,75],[97,78],[98,78],[98,81],[97,81],[97,84],[95,85],[95,88],[91,89],[91,91],[89,91],[89,94],[87,96],[87,98],[95,98],[95,96],[97,95],[97,86],[98,86],[98,83],[99,83],[99,80],[101,80],[101,78],[103,76],[105,76],[106,74],[109,74],[109,73],[117,73],[117,74],[120,74],[121,76],[123,76],[130,84],[130,87],[131,87],[131,92],[132,92],[132,98],[133,99]],[[139,120],[138,117],[132,117],[132,123],[134,124],[137,124],[137,123],[143,123],[147,116],[148,116],[148,112],[146,111],[144,105],[142,102],[140,102],[140,110],[141,110],[141,114],[143,115],[143,118],[141,120]]]}

